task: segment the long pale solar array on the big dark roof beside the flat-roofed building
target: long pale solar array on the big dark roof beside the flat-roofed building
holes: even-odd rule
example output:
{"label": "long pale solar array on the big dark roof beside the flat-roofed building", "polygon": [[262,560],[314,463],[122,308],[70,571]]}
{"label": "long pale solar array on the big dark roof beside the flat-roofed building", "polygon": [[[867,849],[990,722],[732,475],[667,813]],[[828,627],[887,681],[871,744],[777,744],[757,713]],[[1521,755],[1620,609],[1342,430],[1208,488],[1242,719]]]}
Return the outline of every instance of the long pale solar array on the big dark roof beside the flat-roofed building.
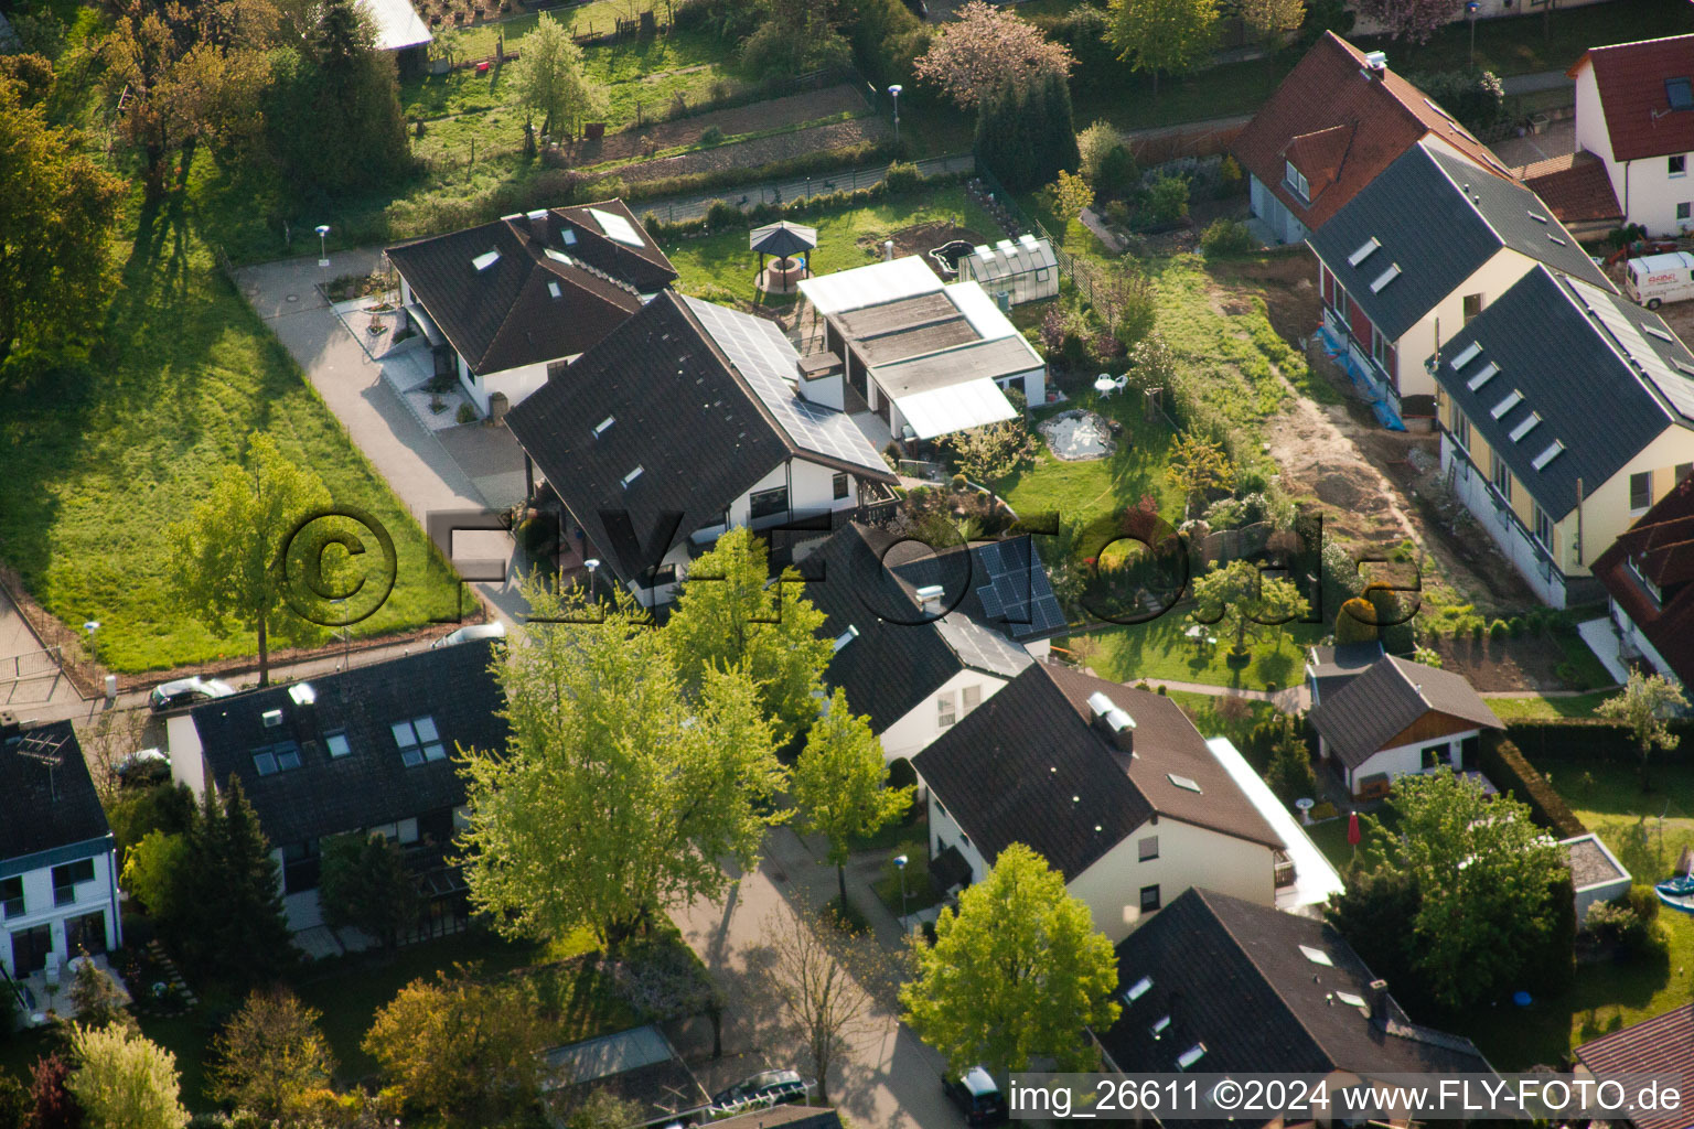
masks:
{"label": "long pale solar array on the big dark roof beside the flat-roofed building", "polygon": [[683,301],[796,447],[879,474],[888,472],[888,464],[847,413],[801,399],[794,391],[789,377],[794,376],[800,354],[783,337],[783,330],[764,318],[710,301]]}

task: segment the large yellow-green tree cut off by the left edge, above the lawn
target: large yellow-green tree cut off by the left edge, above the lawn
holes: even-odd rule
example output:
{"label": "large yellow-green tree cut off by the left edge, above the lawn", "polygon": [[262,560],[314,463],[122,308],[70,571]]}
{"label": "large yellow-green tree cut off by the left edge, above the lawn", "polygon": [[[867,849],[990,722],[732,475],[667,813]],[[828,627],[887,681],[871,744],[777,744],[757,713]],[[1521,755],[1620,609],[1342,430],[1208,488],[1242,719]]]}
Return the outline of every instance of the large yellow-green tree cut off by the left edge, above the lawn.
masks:
{"label": "large yellow-green tree cut off by the left edge, above the lawn", "polygon": [[124,183],[80,156],[25,85],[0,76],[0,361],[76,342],[117,288],[112,234]]}

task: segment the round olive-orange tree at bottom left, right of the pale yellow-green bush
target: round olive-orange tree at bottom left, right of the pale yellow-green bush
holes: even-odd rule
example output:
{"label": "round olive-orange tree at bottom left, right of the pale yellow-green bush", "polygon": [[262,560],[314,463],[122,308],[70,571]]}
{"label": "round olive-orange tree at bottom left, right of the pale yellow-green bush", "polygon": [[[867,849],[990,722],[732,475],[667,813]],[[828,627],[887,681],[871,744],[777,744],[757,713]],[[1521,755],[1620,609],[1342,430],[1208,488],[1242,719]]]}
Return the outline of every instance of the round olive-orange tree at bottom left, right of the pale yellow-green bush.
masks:
{"label": "round olive-orange tree at bottom left, right of the pale yellow-green bush", "polygon": [[318,1019],[286,989],[249,995],[213,1043],[212,1095],[263,1121],[293,1121],[335,1075]]}

